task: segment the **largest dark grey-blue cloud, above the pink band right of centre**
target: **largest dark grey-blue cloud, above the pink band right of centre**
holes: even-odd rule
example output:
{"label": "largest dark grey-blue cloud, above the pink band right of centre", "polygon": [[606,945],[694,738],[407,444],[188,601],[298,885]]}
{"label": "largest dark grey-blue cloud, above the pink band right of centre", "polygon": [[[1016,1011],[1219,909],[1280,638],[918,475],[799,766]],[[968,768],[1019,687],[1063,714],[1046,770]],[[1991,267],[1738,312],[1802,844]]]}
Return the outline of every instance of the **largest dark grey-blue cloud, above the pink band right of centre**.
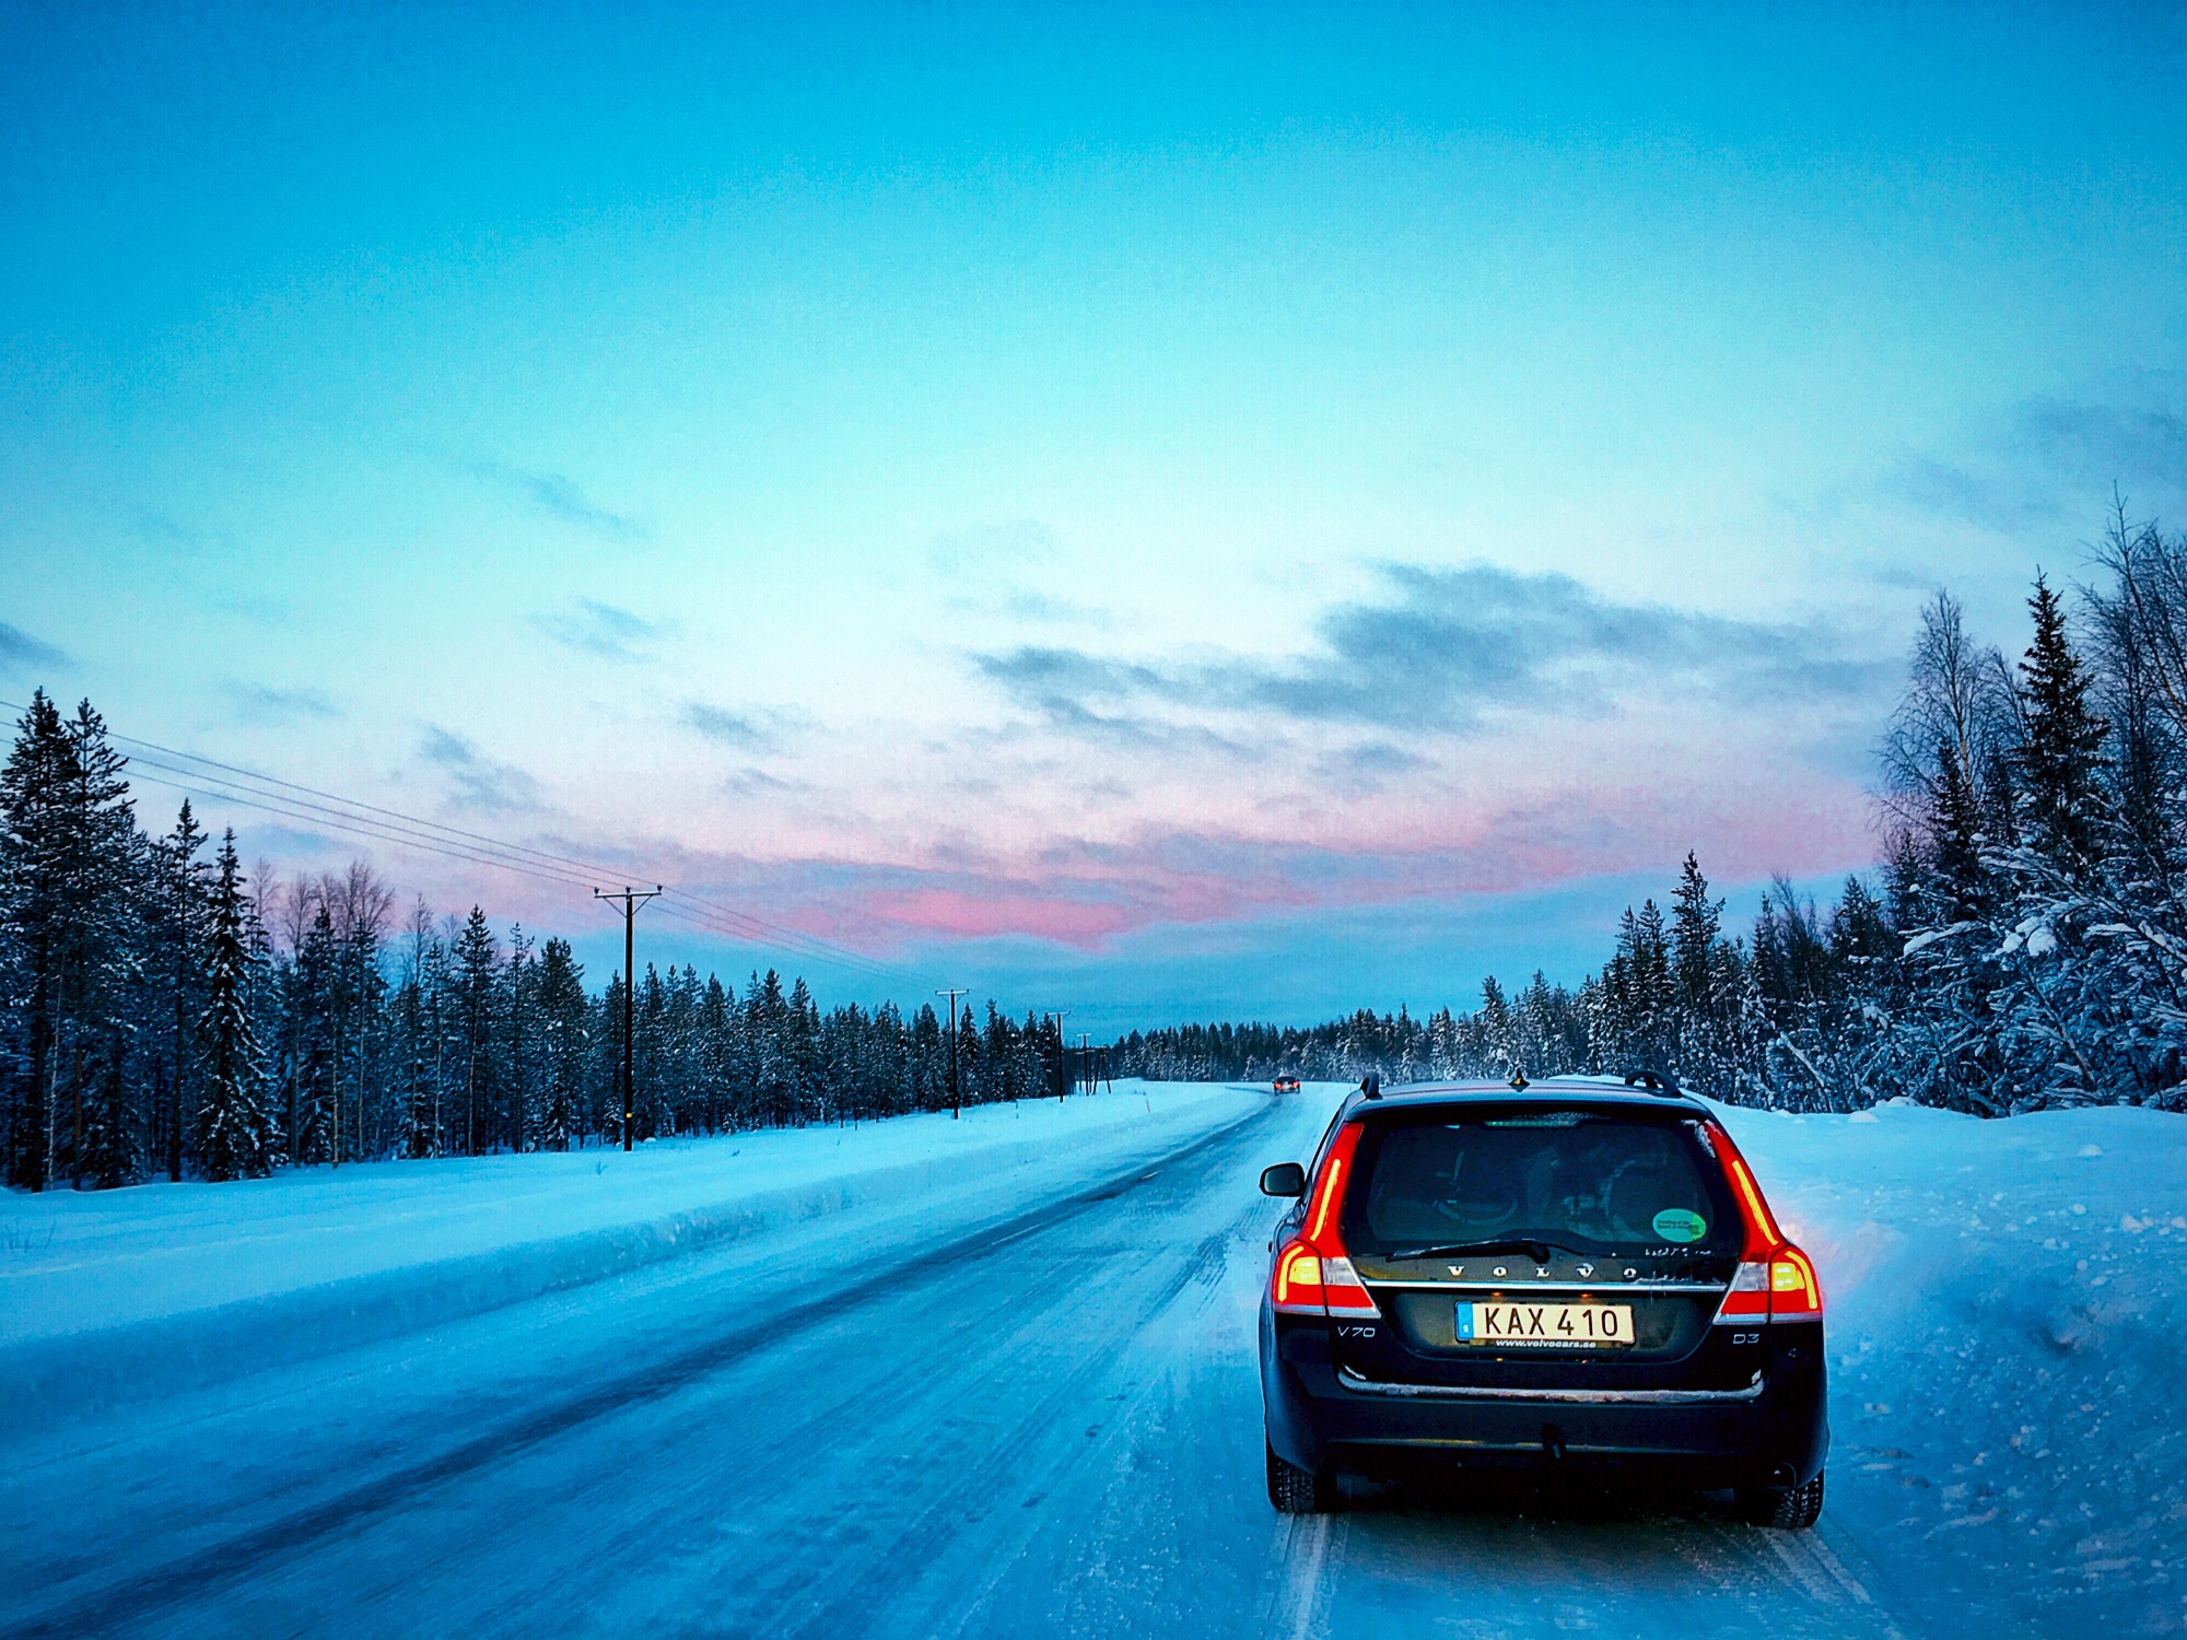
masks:
{"label": "largest dark grey-blue cloud, above the pink band right of centre", "polygon": [[[1813,623],[1618,604],[1566,575],[1408,564],[1382,573],[1387,599],[1328,610],[1317,623],[1319,647],[1293,660],[1148,665],[1028,645],[973,663],[1050,722],[1111,735],[1146,730],[1153,708],[1472,735],[1498,715],[1601,715],[1649,691],[1750,702],[1846,698],[1894,673]],[[1391,772],[1389,750],[1365,757],[1380,757],[1380,772]]]}

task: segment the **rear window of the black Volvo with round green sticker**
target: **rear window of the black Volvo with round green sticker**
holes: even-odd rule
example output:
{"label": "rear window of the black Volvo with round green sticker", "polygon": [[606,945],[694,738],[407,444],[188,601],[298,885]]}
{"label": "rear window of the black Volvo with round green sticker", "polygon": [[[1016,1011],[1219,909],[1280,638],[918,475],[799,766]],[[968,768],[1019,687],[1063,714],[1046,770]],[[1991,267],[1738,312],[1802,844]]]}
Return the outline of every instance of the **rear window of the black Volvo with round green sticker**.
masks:
{"label": "rear window of the black Volvo with round green sticker", "polygon": [[1736,1249],[1708,1155],[1684,1122],[1513,1111],[1371,1124],[1345,1192],[1345,1246],[1402,1253],[1492,1240],[1575,1251]]}

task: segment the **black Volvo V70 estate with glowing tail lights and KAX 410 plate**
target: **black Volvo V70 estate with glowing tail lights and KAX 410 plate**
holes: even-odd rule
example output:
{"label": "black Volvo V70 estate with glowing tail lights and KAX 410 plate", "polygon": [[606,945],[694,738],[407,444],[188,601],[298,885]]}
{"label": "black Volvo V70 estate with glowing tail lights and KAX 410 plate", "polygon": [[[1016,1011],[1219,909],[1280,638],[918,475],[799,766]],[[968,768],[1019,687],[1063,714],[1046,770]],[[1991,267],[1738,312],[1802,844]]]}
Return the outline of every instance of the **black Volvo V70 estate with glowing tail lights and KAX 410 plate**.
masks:
{"label": "black Volvo V70 estate with glowing tail lights and KAX 410 plate", "polygon": [[1540,1467],[1822,1511],[1822,1284],[1699,1100],[1666,1078],[1345,1098],[1268,1244],[1268,1500],[1338,1474]]}

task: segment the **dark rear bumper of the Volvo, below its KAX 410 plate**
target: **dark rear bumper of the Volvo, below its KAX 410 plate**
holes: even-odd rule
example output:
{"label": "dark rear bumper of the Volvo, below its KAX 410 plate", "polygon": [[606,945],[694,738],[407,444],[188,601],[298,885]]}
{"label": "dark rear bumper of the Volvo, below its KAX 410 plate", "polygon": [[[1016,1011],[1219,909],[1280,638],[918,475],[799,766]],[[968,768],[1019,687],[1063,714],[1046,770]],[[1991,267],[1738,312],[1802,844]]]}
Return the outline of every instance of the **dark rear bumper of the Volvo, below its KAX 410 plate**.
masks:
{"label": "dark rear bumper of the Volvo, below its KAX 410 plate", "polygon": [[[1817,1329],[1820,1332],[1820,1329]],[[1831,1445],[1820,1347],[1806,1371],[1734,1391],[1461,1391],[1369,1384],[1330,1360],[1328,1332],[1262,1308],[1268,1445],[1303,1469],[1570,1469],[1691,1487],[1789,1487]],[[1820,1340],[1817,1340],[1820,1345]]]}

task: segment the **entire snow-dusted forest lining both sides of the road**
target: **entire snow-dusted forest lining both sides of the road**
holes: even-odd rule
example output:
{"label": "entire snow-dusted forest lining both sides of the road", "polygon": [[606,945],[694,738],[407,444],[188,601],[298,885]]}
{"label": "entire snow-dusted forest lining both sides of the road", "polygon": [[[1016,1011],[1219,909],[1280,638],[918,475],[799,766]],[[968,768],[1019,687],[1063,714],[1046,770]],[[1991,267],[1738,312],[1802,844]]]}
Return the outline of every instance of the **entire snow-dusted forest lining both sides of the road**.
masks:
{"label": "entire snow-dusted forest lining both sides of the road", "polygon": [[[2036,579],[2016,658],[1938,593],[1879,748],[1883,862],[1828,910],[1778,881],[1747,936],[1691,855],[1577,991],[1487,980],[1472,1010],[1310,1030],[1131,1032],[1157,1078],[1656,1067],[1739,1102],[1914,1098],[2005,1115],[2187,1106],[2187,540],[2119,518],[2093,582]],[[282,1163],[597,1144],[619,1131],[621,975],[566,940],[435,918],[370,864],[282,879],[188,803],[147,833],[98,713],[39,691],[0,772],[7,1179],[125,1185]],[[636,986],[636,1135],[949,1102],[932,1006],[822,1008],[776,973]],[[1050,1093],[1056,1021],[960,1023],[964,1102]]]}

